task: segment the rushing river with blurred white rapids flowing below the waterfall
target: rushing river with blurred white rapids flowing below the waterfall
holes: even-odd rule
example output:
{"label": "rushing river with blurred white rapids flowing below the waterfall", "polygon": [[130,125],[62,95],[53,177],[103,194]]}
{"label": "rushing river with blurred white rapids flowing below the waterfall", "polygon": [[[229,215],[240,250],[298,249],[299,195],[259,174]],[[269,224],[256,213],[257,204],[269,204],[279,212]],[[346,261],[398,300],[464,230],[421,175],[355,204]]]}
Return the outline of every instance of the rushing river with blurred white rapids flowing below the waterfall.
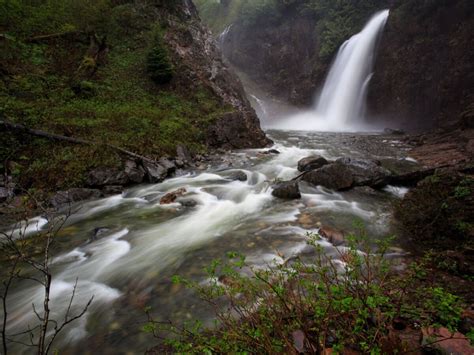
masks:
{"label": "rushing river with blurred white rapids flowing below the waterfall", "polygon": [[[154,343],[140,330],[145,306],[163,320],[209,319],[210,310],[191,291],[174,285],[171,276],[205,281],[204,267],[228,251],[264,266],[306,253],[306,234],[317,232],[320,224],[350,231],[361,219],[375,238],[391,232],[391,204],[406,189],[333,192],[301,183],[302,198],[286,201],[272,197],[271,182],[298,175],[298,160],[311,154],[404,159],[401,142],[377,134],[268,133],[280,154],[228,153],[209,160],[204,170],[73,209],[52,259],[53,317],[62,317],[76,278],[76,308],[91,296],[94,301],[57,342],[61,354],[142,353]],[[245,172],[247,181],[229,179],[236,170]],[[164,194],[178,188],[186,189],[184,196],[160,205]],[[35,224],[47,227],[41,218]],[[321,244],[336,255],[330,243]],[[35,323],[32,303],[40,308],[42,297],[37,284],[17,284],[9,299],[11,332]]]}

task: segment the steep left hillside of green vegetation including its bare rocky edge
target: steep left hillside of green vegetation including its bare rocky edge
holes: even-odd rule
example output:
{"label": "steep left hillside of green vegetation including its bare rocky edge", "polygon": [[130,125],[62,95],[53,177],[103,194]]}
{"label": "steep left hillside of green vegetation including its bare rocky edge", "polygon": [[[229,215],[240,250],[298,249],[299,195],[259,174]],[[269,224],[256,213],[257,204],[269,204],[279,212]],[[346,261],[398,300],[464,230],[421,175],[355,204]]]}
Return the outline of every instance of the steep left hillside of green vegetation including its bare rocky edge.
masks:
{"label": "steep left hillside of green vegetation including its bare rocky edge", "polygon": [[103,145],[157,160],[270,143],[190,0],[0,2],[0,120],[0,174],[23,188],[122,168]]}

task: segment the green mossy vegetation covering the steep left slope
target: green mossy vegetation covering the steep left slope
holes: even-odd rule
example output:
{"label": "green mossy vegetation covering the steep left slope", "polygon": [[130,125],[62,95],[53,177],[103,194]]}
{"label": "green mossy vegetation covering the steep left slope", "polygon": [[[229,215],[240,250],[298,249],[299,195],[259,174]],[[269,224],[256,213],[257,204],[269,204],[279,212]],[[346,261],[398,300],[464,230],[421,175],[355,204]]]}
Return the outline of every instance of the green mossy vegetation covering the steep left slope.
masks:
{"label": "green mossy vegetation covering the steep left slope", "polygon": [[82,146],[0,135],[0,164],[23,187],[81,185],[120,164],[112,144],[151,158],[205,149],[222,104],[204,87],[168,84],[174,64],[156,4],[127,0],[0,2],[0,117],[88,139]]}

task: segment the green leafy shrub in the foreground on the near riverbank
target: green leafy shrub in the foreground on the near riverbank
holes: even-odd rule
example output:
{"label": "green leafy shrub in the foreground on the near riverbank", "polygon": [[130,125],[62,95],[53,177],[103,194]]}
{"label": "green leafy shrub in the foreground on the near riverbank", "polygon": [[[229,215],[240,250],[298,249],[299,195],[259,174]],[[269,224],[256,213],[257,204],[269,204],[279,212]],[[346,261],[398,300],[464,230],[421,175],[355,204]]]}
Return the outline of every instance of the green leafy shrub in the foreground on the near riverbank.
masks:
{"label": "green leafy shrub in the foreground on the near riverbank", "polygon": [[317,236],[309,237],[316,251],[312,260],[256,269],[244,256],[229,253],[228,261],[216,260],[207,268],[208,284],[174,277],[173,282],[223,307],[212,329],[199,321],[183,327],[163,325],[148,311],[146,331],[157,337],[167,334],[159,351],[299,353],[294,337],[300,333],[306,349],[315,353],[328,347],[337,352],[350,347],[371,354],[403,353],[413,349],[390,338],[394,322],[456,329],[459,299],[442,288],[423,286],[423,263],[398,274],[385,258],[387,241],[374,251],[365,235],[352,236],[349,248],[333,259],[323,253]]}

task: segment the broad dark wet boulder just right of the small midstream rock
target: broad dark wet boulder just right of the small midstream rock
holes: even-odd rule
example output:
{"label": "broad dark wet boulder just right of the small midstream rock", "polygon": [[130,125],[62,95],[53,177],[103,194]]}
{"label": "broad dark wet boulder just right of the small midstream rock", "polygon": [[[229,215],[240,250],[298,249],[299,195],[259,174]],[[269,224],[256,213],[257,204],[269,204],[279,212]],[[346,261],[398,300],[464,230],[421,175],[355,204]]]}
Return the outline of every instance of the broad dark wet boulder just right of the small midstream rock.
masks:
{"label": "broad dark wet boulder just right of the small midstream rock", "polygon": [[302,180],[312,185],[321,185],[333,190],[346,190],[354,184],[351,169],[338,163],[309,171],[303,175]]}

